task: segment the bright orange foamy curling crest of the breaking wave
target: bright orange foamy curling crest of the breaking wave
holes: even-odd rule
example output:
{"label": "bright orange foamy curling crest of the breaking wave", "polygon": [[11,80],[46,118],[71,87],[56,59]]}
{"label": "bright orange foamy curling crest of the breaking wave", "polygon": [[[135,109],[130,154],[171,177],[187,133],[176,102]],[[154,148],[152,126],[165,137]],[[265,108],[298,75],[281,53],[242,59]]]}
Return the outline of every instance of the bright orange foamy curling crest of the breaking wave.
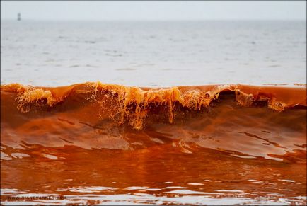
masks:
{"label": "bright orange foamy curling crest of the breaking wave", "polygon": [[[87,82],[56,88],[8,84],[1,91],[16,94],[18,110],[28,113],[33,108],[49,108],[63,103],[67,98],[79,96],[84,101],[99,101],[112,109],[110,118],[119,125],[127,122],[137,130],[144,127],[144,120],[154,108],[165,108],[168,122],[173,123],[176,112],[182,108],[202,110],[209,108],[220,93],[234,92],[239,105],[265,104],[273,110],[283,111],[296,105],[306,106],[306,87],[246,86],[240,84],[175,86],[171,88],[139,88]],[[117,108],[117,109],[115,109]]]}

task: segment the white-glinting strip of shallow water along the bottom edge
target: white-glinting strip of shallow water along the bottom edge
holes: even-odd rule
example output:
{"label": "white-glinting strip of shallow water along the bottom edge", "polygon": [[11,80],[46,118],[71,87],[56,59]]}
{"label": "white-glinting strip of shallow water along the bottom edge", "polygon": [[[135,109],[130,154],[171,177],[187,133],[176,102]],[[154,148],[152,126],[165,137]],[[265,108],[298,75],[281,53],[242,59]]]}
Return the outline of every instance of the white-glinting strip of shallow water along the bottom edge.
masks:
{"label": "white-glinting strip of shallow water along the bottom edge", "polygon": [[[90,188],[88,188],[90,189]],[[92,194],[96,192],[97,188],[93,191],[88,190],[82,195],[60,195],[50,193],[23,193],[18,190],[1,190],[2,204],[12,205],[10,195],[15,195],[17,205],[33,205],[33,204],[78,204],[78,205],[303,205],[306,203],[306,197],[296,196],[291,198],[279,198],[279,193],[265,193],[259,197],[250,197],[242,191],[233,190],[231,193],[236,195],[227,195],[227,193],[196,193],[192,190],[185,190],[184,193],[174,193],[174,195],[155,195],[149,193],[128,193],[128,194],[110,194],[100,195]],[[226,191],[228,192],[228,191]],[[23,194],[21,194],[23,193]],[[202,194],[202,195],[197,195]],[[44,200],[48,199],[48,200]]]}

